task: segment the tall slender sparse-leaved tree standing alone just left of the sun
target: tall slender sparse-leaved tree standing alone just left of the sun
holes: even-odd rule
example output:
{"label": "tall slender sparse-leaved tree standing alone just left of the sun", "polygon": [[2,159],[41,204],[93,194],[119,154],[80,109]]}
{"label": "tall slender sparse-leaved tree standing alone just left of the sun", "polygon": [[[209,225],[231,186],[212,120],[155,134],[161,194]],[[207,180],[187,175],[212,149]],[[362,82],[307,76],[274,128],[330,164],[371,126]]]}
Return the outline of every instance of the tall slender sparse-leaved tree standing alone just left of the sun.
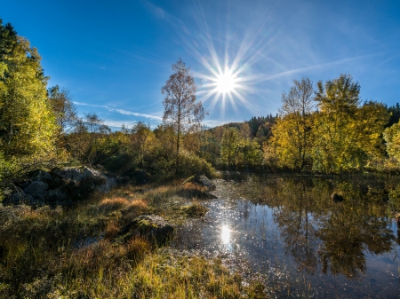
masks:
{"label": "tall slender sparse-leaved tree standing alone just left of the sun", "polygon": [[182,134],[199,130],[204,119],[202,102],[196,102],[196,83],[189,74],[189,67],[179,59],[172,65],[173,74],[161,88],[165,95],[163,121],[172,125],[176,134],[176,170],[179,169],[179,153]]}

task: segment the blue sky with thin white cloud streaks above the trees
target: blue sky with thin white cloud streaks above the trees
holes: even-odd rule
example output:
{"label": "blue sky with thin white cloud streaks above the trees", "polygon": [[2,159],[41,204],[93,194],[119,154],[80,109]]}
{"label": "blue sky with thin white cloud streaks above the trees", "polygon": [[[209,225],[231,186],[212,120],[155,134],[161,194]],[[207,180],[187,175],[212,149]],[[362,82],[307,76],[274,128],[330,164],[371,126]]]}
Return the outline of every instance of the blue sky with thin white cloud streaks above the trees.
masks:
{"label": "blue sky with thin white cloud streaks above the trees", "polygon": [[[15,0],[0,18],[38,49],[49,87],[68,89],[81,116],[95,112],[114,128],[162,122],[161,87],[179,58],[209,126],[276,114],[302,76],[348,73],[361,98],[400,102],[397,0]],[[230,96],[211,86],[225,68],[236,80]]]}

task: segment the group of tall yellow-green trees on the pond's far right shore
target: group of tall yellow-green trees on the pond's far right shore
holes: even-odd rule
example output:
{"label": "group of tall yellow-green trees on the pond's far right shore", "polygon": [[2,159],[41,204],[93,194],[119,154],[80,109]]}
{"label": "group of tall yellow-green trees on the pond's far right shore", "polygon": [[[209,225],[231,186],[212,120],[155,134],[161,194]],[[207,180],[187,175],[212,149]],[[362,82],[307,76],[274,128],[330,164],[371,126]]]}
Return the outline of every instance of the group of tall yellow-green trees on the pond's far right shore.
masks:
{"label": "group of tall yellow-green trees on the pond's far right shore", "polygon": [[347,74],[319,81],[316,90],[308,78],[293,83],[266,145],[277,166],[324,173],[397,168],[398,104],[363,102]]}

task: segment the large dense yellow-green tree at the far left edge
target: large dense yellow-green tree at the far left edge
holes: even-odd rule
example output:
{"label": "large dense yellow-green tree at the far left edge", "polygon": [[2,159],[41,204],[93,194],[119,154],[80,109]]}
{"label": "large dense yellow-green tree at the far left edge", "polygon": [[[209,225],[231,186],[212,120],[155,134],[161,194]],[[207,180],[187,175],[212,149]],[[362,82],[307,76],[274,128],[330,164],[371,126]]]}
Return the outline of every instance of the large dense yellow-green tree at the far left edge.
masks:
{"label": "large dense yellow-green tree at the far left edge", "polygon": [[[0,23],[0,34],[7,27]],[[13,31],[8,27],[12,41]],[[56,124],[46,97],[47,78],[36,48],[26,38],[0,42],[0,146],[4,159],[22,168],[50,161]],[[12,44],[12,45],[10,45]]]}

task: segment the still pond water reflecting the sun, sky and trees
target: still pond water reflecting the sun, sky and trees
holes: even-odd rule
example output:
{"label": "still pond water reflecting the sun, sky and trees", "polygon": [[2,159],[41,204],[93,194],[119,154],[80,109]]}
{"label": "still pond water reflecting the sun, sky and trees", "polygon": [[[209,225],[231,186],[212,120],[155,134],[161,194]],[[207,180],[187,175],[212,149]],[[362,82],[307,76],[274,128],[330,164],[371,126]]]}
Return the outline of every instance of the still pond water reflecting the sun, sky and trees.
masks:
{"label": "still pond water reflecting the sun, sky and trees", "polygon": [[[210,211],[172,246],[226,256],[317,298],[398,298],[396,177],[239,177],[214,181]],[[339,193],[344,201],[333,201]]]}

